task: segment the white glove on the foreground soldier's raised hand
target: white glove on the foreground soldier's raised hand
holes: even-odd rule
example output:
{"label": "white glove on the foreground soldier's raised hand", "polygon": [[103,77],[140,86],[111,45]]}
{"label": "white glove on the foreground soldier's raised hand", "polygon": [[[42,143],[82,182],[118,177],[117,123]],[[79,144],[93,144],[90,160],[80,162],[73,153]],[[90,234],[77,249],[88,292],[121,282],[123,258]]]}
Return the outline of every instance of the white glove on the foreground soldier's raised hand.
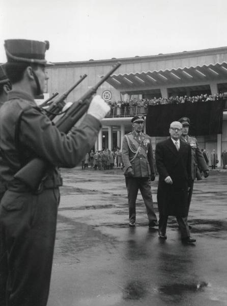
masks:
{"label": "white glove on the foreground soldier's raised hand", "polygon": [[100,97],[100,95],[94,96],[88,109],[88,114],[92,115],[98,120],[102,120],[110,111],[110,107]]}

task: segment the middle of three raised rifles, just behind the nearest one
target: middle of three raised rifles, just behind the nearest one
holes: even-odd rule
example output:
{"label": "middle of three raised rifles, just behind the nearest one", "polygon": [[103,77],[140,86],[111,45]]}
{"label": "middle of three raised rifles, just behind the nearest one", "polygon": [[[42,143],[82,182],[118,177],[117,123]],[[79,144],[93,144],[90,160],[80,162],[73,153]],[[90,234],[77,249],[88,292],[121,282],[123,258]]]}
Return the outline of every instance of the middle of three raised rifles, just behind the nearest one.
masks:
{"label": "middle of three raised rifles, just behind the nearest one", "polygon": [[59,115],[59,113],[64,108],[65,99],[69,95],[69,93],[76,88],[85,78],[87,78],[87,74],[80,75],[79,81],[77,81],[72,87],[70,87],[68,90],[66,90],[60,97],[58,97],[53,103],[46,109],[47,116],[50,120],[53,120],[56,115]]}

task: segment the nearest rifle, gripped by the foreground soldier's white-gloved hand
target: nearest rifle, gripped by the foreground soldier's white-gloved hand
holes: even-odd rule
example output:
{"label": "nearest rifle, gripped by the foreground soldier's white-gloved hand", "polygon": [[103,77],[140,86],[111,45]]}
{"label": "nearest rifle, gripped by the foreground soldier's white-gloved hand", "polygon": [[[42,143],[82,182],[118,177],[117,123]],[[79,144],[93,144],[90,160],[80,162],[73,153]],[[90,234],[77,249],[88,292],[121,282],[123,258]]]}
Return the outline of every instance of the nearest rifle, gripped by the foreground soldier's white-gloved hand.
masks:
{"label": "nearest rifle, gripped by the foreground soldier's white-gloved hand", "polygon": [[[56,121],[56,126],[61,132],[68,133],[75,123],[87,112],[90,103],[93,98],[93,94],[96,93],[100,85],[102,85],[110,75],[118,69],[121,65],[117,62],[112,66],[112,69],[104,75],[104,77],[91,89],[89,89],[77,102],[73,103],[70,108],[67,109],[65,115]],[[25,183],[33,191],[42,183],[48,163],[40,158],[34,158],[21,168],[15,175],[14,178]],[[35,173],[35,177],[33,175]]]}

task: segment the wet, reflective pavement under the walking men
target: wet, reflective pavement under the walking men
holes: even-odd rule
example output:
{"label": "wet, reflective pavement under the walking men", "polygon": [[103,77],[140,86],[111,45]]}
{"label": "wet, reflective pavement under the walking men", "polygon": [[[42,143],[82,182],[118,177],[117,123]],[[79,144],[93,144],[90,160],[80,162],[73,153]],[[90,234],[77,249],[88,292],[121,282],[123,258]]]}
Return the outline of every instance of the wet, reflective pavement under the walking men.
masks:
{"label": "wet, reflective pavement under the walking men", "polygon": [[225,171],[195,182],[188,223],[197,241],[184,245],[174,217],[165,241],[148,228],[140,194],[128,227],[120,168],[63,169],[48,306],[227,305]]}

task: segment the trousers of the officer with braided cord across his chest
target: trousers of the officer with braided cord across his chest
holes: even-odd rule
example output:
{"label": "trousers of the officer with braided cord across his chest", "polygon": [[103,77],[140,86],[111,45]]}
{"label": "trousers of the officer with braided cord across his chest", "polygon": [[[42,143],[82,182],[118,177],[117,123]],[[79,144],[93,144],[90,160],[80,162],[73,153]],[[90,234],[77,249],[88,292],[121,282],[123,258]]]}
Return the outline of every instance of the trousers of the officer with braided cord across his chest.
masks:
{"label": "trousers of the officer with braided cord across his chest", "polygon": [[157,221],[154,212],[153,199],[151,193],[150,177],[125,177],[126,187],[128,191],[128,206],[129,206],[129,222],[135,222],[135,202],[140,190],[147,209],[149,222]]}

